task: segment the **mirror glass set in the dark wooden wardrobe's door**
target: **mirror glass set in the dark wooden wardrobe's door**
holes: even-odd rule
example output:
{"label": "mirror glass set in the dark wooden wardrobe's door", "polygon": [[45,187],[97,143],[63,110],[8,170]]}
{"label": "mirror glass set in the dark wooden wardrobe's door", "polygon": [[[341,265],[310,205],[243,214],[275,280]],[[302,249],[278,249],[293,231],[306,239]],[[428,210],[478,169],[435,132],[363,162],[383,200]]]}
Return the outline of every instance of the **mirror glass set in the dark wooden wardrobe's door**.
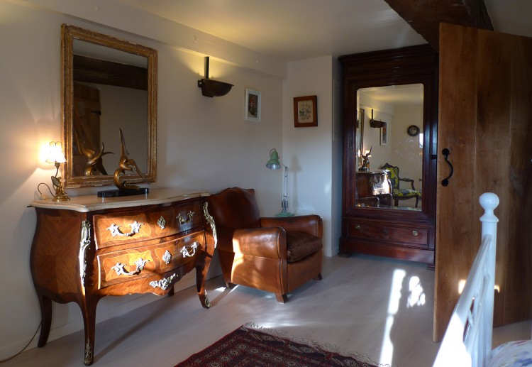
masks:
{"label": "mirror glass set in the dark wooden wardrobe's door", "polygon": [[423,84],[358,89],[358,207],[421,211]]}

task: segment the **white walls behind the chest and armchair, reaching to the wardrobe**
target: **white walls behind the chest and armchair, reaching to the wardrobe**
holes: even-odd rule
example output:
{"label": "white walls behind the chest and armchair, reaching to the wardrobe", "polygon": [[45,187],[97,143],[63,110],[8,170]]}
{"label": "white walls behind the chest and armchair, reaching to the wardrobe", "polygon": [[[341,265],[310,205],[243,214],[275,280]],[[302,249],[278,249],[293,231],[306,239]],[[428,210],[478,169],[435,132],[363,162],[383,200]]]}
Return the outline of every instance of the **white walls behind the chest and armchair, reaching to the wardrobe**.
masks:
{"label": "white walls behind the chest and armchair, reaching to the wardrobe", "polygon": [[[338,187],[338,180],[331,179],[333,167],[338,165],[331,165],[335,153],[331,57],[294,65],[284,84],[286,65],[267,55],[140,13],[115,0],[0,1],[0,152],[6,163],[0,191],[0,277],[4,280],[0,283],[0,359],[26,345],[40,322],[29,269],[35,210],[26,206],[37,197],[39,182],[49,183],[55,173],[44,163],[43,154],[50,141],[61,138],[62,23],[157,49],[157,182],[152,187],[207,192],[253,187],[261,214],[272,215],[279,212],[282,178],[267,170],[265,162],[270,149],[278,147],[292,171],[292,185],[296,185],[292,208],[322,215],[325,253],[336,253],[331,247],[338,248],[339,232],[339,222],[331,224],[339,214],[331,209],[338,205],[338,200],[331,204],[333,187]],[[192,35],[199,35],[197,42]],[[225,97],[203,97],[197,87],[197,80],[203,77],[204,55],[209,54],[211,77],[235,85]],[[301,84],[304,72],[311,80]],[[296,82],[290,82],[292,77]],[[244,121],[246,88],[262,92],[260,122]],[[318,127],[295,129],[292,97],[310,94],[318,95]],[[96,189],[67,192],[94,195]],[[331,245],[333,236],[336,241]],[[215,262],[213,268],[219,272]],[[178,285],[193,283],[191,275]],[[97,322],[155,299],[154,295],[106,297],[99,302]],[[53,303],[49,340],[79,329],[79,307]],[[33,341],[31,346],[35,345]]]}

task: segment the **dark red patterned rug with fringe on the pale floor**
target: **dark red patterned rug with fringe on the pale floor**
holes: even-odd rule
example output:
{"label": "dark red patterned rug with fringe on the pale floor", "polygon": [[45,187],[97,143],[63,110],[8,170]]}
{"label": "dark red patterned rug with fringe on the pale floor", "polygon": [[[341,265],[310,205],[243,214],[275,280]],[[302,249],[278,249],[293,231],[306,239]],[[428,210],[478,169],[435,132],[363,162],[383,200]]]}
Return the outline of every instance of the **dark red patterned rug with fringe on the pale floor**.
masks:
{"label": "dark red patterned rug with fringe on the pale floor", "polygon": [[275,330],[245,324],[231,334],[193,354],[175,367],[272,367],[355,366],[375,367],[362,354],[340,354],[330,345],[319,345]]}

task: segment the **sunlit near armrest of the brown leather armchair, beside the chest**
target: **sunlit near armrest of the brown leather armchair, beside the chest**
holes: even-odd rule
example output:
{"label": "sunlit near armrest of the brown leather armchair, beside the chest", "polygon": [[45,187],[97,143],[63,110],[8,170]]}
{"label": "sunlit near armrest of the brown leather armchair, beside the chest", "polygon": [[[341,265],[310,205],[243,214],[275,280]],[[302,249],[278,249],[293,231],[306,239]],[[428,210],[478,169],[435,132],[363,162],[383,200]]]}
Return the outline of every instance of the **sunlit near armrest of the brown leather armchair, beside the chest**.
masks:
{"label": "sunlit near armrest of the brown leather armchair, beside the chest", "polygon": [[287,233],[280,227],[236,229],[233,252],[262,258],[287,258]]}

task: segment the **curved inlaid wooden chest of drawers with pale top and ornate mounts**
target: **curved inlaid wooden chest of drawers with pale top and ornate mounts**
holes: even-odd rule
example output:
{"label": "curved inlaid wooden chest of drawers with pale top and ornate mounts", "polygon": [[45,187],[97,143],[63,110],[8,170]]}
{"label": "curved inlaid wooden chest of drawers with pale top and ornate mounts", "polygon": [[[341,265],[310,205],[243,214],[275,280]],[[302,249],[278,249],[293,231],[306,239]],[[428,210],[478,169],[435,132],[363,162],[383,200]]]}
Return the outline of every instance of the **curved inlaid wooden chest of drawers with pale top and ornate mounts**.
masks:
{"label": "curved inlaid wooden chest of drawers with pale top and ornate mounts", "polygon": [[209,308],[205,280],[216,227],[204,200],[208,195],[161,189],[140,197],[33,202],[31,274],[43,319],[38,346],[48,340],[52,301],[77,302],[85,327],[84,363],[92,364],[102,297],[172,295],[174,283],[194,268],[199,300]]}

